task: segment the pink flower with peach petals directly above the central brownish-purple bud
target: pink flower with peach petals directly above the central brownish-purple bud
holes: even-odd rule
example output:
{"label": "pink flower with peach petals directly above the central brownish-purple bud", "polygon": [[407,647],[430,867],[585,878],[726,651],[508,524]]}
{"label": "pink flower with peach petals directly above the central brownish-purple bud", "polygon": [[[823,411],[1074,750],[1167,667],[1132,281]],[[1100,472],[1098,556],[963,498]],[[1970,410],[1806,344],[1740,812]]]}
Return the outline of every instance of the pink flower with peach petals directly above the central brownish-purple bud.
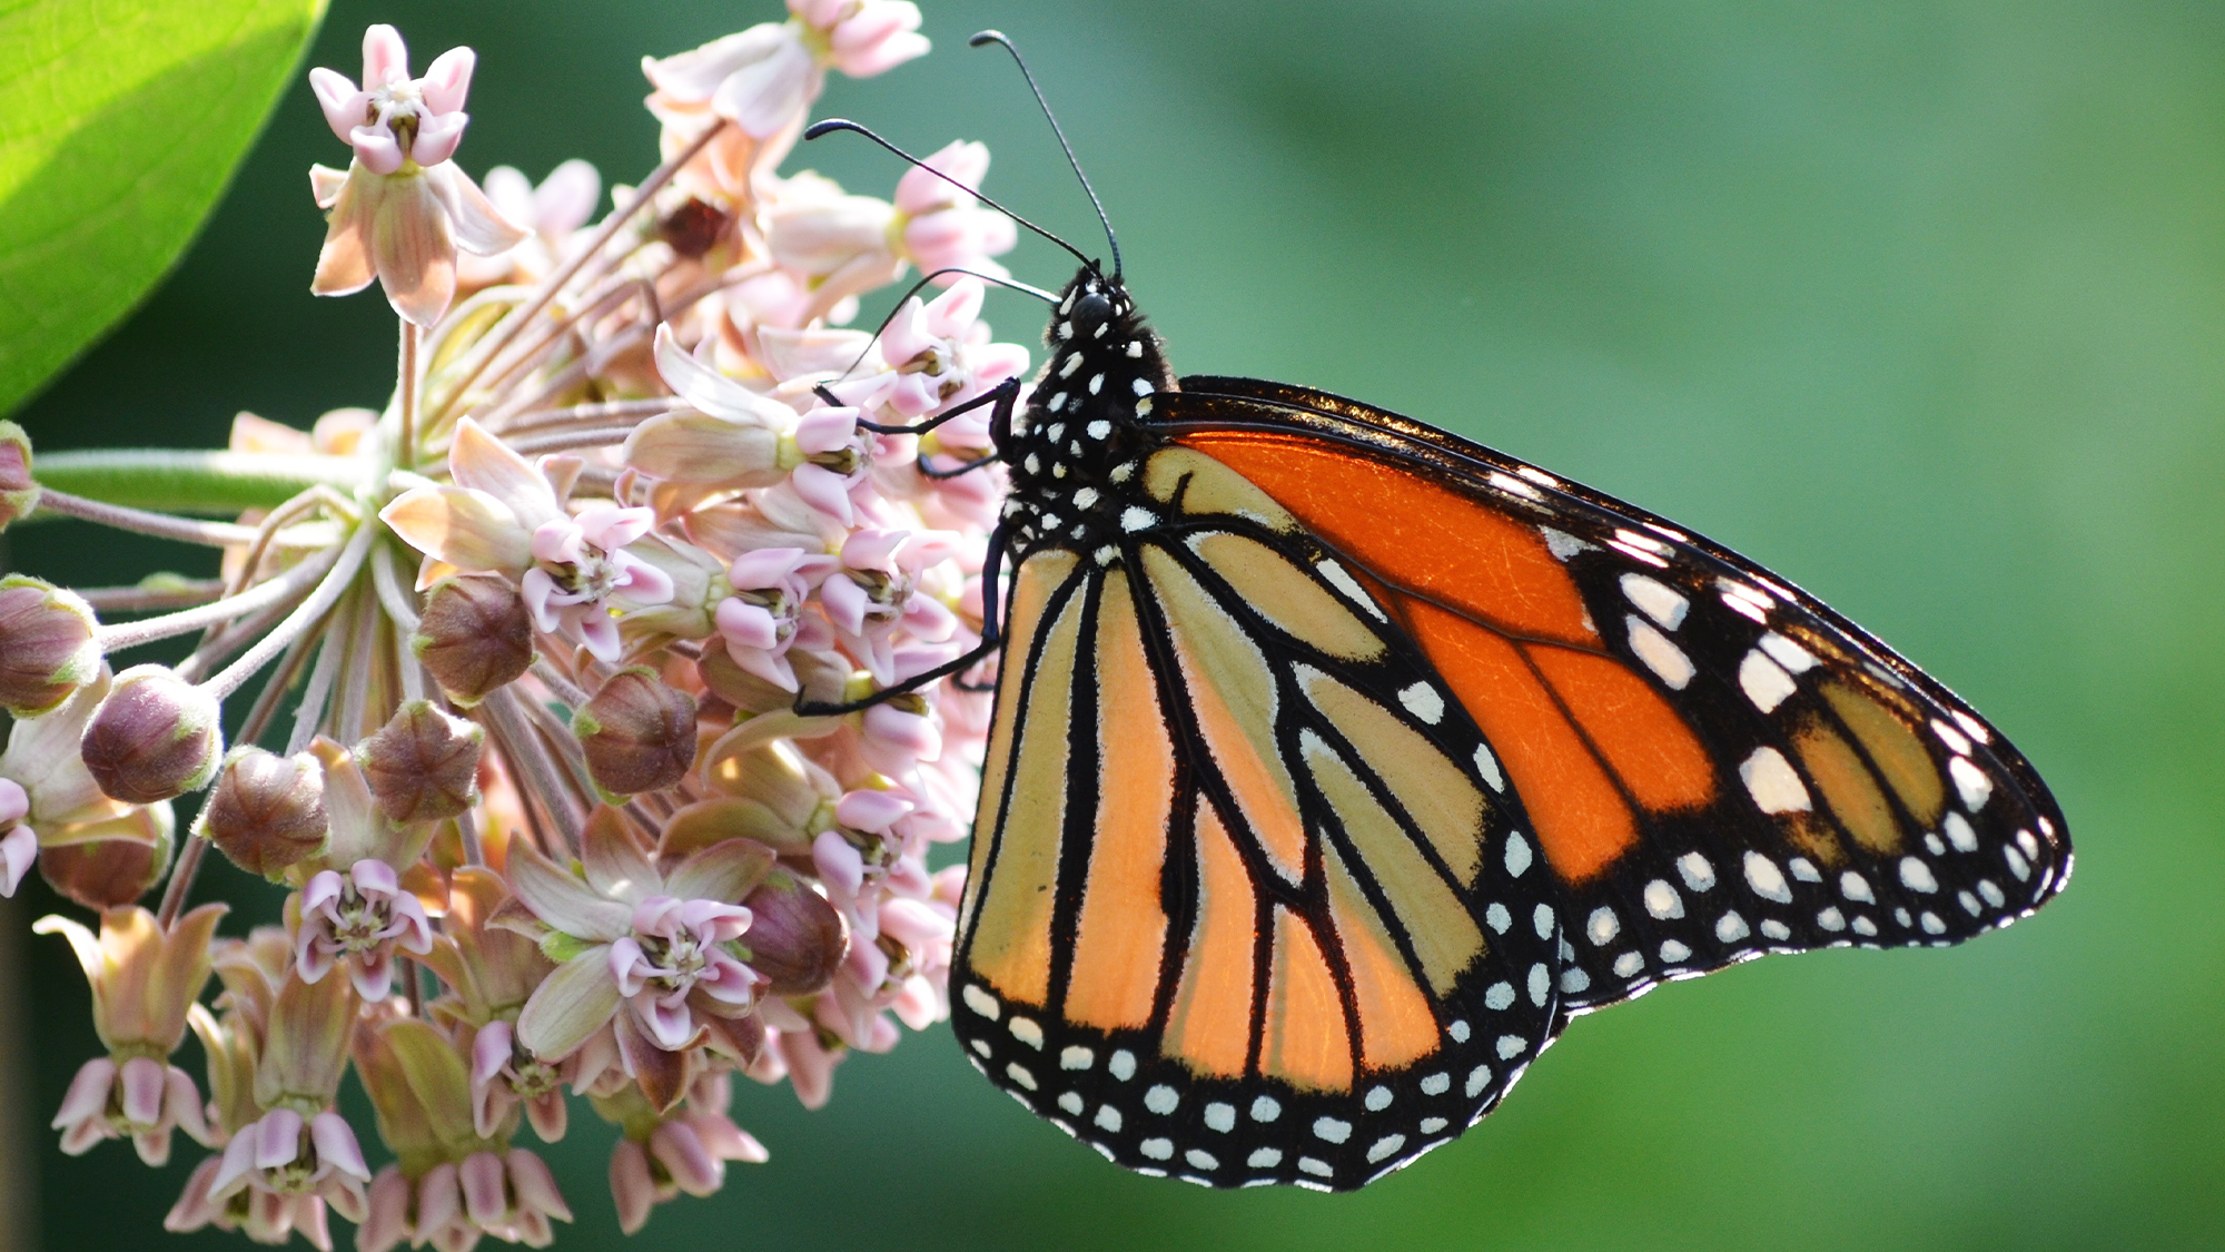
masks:
{"label": "pink flower with peach petals directly above the central brownish-purple bud", "polygon": [[616,615],[672,599],[672,577],[630,552],[656,515],[590,503],[574,517],[547,472],[465,417],[447,450],[454,486],[412,488],[378,517],[429,561],[418,586],[447,573],[487,573],[518,586],[534,626],[623,655]]}

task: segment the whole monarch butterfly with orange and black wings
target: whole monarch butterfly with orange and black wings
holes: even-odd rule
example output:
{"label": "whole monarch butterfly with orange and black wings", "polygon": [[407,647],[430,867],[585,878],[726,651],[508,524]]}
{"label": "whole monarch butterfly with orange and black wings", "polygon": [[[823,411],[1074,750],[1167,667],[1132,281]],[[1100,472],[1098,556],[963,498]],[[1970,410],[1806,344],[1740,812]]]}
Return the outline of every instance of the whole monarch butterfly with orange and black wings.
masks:
{"label": "whole monarch butterfly with orange and black wings", "polygon": [[1353,1190],[1575,1016],[2067,882],[2025,757],[1816,597],[1420,421],[1177,381],[1117,241],[1075,256],[1030,399],[979,401],[983,648],[921,675],[1003,648],[952,1023],[1059,1129]]}

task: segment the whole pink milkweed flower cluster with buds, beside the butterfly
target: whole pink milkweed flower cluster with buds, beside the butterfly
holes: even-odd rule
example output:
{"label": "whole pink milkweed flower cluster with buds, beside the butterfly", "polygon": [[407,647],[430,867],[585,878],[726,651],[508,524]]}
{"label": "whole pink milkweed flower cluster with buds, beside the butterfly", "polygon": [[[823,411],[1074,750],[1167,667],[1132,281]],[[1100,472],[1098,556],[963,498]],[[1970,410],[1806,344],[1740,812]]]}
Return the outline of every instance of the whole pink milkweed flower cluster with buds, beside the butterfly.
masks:
{"label": "whole pink milkweed flower cluster with buds, beside the butterfly", "polygon": [[[53,1127],[205,1150],[171,1230],[541,1248],[574,1199],[538,1145],[585,1101],[632,1232],[765,1158],[736,1089],[817,1107],[843,1056],[948,1014],[963,869],[928,853],[972,820],[988,706],[955,666],[1003,481],[923,472],[983,452],[986,410],[888,428],[1028,370],[970,276],[1012,227],[970,192],[975,143],[888,200],[781,172],[828,71],[917,58],[917,27],[790,0],[647,60],[661,163],[603,216],[576,160],[483,192],[472,51],[412,76],[372,27],[360,78],[312,71],[352,154],[312,172],[314,290],[394,305],[383,410],[243,414],[200,499],[243,463],[294,490],[236,521],[56,490],[69,454],[0,423],[0,524],[222,550],[214,579],[0,579],[0,893],[36,867],[93,913],[38,929],[107,1049]],[[848,325],[912,272],[932,287],[886,330]],[[187,907],[211,849],[285,893],[283,927]],[[349,1072],[374,1125],[336,1105]]]}

